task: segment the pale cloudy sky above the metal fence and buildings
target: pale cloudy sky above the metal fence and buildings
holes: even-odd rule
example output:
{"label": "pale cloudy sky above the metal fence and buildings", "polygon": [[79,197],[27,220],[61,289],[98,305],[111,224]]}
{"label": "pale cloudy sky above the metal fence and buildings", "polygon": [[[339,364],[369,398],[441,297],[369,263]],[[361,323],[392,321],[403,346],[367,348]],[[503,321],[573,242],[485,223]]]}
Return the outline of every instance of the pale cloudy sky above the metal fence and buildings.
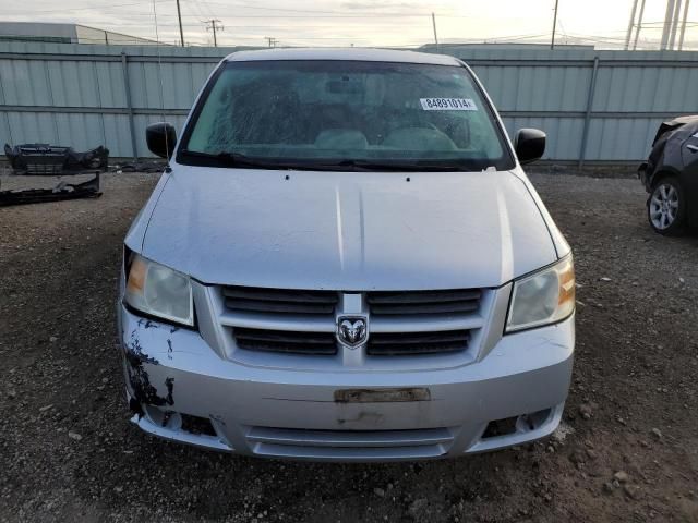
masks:
{"label": "pale cloudy sky above the metal fence and buildings", "polygon": [[[4,21],[74,22],[152,39],[155,8],[159,39],[179,41],[176,0],[2,3]],[[555,0],[180,0],[180,5],[188,45],[213,45],[205,21],[216,19],[224,27],[219,46],[265,46],[265,37],[273,37],[281,46],[418,47],[434,42],[432,13],[440,42],[550,41]],[[689,5],[685,47],[698,49],[698,0]],[[556,41],[622,47],[631,7],[633,0],[559,0]],[[665,9],[666,0],[646,0],[638,48],[657,48]]]}

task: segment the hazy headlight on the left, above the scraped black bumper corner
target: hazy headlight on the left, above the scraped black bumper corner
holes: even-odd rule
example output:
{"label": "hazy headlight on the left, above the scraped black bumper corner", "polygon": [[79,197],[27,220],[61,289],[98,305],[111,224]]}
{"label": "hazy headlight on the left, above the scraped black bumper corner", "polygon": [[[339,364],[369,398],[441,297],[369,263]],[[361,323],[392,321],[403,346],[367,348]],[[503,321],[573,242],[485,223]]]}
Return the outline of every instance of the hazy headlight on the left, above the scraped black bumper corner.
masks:
{"label": "hazy headlight on the left, above the scraped black bumper corner", "polygon": [[137,254],[133,255],[129,267],[124,300],[142,313],[178,324],[194,325],[189,277]]}

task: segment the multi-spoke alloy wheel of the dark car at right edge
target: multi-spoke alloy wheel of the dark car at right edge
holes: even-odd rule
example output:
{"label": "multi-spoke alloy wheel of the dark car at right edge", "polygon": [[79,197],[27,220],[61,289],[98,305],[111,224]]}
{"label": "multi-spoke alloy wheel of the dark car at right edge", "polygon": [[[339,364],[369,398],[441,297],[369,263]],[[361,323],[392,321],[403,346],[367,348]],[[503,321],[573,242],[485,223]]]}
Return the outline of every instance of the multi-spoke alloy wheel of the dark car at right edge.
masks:
{"label": "multi-spoke alloy wheel of the dark car at right edge", "polygon": [[681,234],[686,221],[686,196],[681,182],[674,178],[660,180],[647,202],[650,226],[665,235]]}

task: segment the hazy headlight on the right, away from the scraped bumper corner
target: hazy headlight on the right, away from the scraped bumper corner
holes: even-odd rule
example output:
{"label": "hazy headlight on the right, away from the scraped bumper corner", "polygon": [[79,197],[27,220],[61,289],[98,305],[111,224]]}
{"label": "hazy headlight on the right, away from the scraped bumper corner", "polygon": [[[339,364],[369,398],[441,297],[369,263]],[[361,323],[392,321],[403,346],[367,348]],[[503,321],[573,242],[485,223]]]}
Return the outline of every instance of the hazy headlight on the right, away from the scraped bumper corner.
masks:
{"label": "hazy headlight on the right, away from the scraped bumper corner", "polygon": [[571,256],[514,281],[506,331],[541,327],[575,311],[575,265]]}

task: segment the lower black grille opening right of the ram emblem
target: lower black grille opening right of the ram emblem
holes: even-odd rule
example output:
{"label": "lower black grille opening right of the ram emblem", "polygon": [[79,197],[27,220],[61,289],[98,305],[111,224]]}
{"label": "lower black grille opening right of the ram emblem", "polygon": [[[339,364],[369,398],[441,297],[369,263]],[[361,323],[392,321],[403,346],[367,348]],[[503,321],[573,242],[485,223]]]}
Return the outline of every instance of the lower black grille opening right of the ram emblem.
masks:
{"label": "lower black grille opening right of the ram emblem", "polygon": [[369,338],[366,353],[372,356],[407,356],[465,351],[469,330],[434,332],[375,332]]}

